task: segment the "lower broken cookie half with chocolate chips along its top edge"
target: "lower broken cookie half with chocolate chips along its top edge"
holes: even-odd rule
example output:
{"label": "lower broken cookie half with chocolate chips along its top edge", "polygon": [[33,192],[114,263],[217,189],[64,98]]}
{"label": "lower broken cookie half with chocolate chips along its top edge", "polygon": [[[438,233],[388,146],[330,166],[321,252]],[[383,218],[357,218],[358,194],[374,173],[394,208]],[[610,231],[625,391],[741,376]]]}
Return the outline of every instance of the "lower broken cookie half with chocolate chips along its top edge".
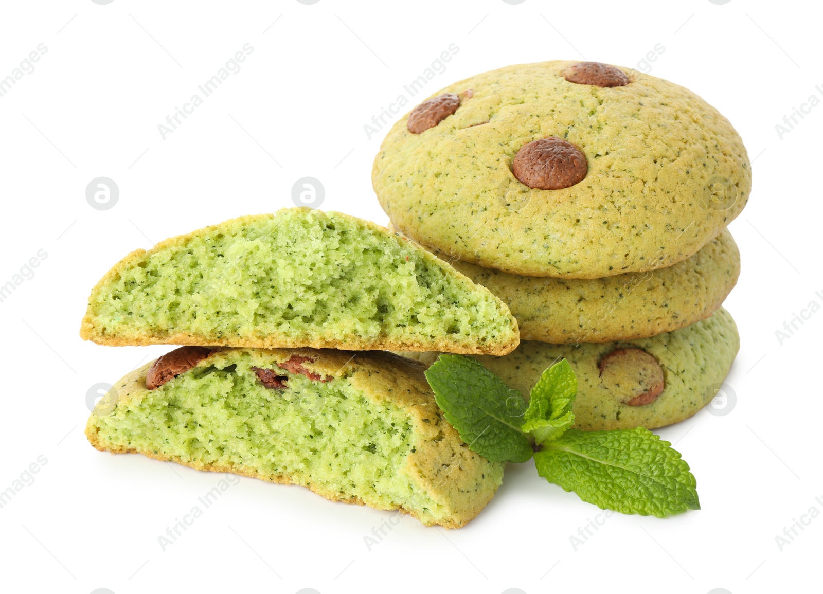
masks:
{"label": "lower broken cookie half with chocolate chips along its top edge", "polygon": [[86,436],[101,451],[461,527],[491,500],[504,463],[461,441],[423,369],[383,352],[184,346],[115,383]]}

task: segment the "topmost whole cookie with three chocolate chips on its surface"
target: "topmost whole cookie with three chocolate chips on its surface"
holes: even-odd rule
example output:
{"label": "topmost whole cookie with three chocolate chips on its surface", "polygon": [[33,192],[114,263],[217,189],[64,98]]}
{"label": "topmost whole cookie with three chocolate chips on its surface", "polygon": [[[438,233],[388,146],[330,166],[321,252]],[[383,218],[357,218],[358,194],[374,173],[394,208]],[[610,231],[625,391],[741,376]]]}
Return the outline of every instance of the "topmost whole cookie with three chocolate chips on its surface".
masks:
{"label": "topmost whole cookie with three chocolate chips on its surface", "polygon": [[438,91],[388,132],[372,183],[427,247],[592,279],[690,258],[742,211],[751,169],[732,125],[690,90],[555,61]]}

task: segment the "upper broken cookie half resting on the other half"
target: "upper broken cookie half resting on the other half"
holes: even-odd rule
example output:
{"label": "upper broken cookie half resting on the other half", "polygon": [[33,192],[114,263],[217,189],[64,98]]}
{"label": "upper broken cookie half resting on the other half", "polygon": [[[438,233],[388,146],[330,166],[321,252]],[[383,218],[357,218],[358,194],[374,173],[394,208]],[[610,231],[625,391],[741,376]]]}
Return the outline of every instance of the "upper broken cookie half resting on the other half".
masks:
{"label": "upper broken cookie half resting on the other half", "polygon": [[91,291],[81,337],[152,344],[505,355],[517,322],[489,290],[366,220],[291,208],[139,249]]}

